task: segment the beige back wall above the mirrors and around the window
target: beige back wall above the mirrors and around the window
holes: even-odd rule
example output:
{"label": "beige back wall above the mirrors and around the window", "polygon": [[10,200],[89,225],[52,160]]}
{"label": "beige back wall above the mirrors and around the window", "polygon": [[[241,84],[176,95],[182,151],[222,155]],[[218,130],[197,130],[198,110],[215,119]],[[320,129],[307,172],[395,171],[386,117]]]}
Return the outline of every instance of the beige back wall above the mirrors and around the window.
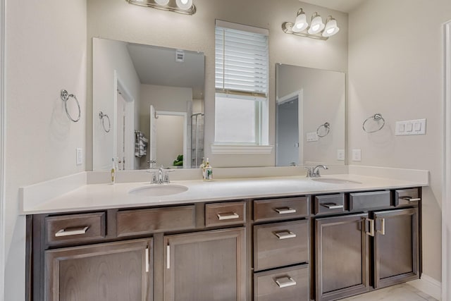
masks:
{"label": "beige back wall above the mirrors and around the window", "polygon": [[[196,0],[197,13],[183,16],[152,8],[133,6],[123,0],[89,0],[88,37],[120,39],[128,42],[202,51],[205,54],[205,156],[213,166],[274,166],[274,153],[268,155],[212,155],[214,142],[214,24],[227,20],[269,29],[270,144],[275,143],[275,64],[307,66],[347,71],[347,14],[297,0]],[[340,32],[328,41],[286,35],[281,25],[294,21],[302,7],[308,16],[317,11],[333,15]],[[89,41],[88,41],[89,43]],[[88,58],[88,68],[90,59]],[[89,70],[89,69],[88,69]],[[89,73],[88,73],[89,74]],[[88,94],[91,89],[88,79]],[[87,145],[91,136],[87,125]],[[88,158],[89,161],[89,158]],[[89,165],[87,168],[89,169]]]}

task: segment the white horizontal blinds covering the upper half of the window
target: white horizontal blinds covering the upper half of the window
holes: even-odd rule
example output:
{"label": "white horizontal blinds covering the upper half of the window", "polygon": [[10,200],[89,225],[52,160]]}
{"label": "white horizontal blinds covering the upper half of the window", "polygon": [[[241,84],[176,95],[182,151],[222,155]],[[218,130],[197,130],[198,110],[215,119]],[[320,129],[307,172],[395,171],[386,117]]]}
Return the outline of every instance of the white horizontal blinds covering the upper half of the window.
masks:
{"label": "white horizontal blinds covering the upper half of the window", "polygon": [[[268,34],[255,27],[237,25],[252,31],[224,27],[216,21],[215,87],[226,94],[267,97],[268,94]],[[235,28],[233,28],[235,27]]]}

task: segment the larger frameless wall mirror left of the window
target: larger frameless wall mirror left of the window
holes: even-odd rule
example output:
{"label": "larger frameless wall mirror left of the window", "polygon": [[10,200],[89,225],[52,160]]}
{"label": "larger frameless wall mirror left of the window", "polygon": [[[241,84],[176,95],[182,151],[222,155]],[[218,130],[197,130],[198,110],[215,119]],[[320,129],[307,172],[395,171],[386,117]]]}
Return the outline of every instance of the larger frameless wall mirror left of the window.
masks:
{"label": "larger frameless wall mirror left of the window", "polygon": [[191,168],[204,155],[204,54],[93,38],[93,170]]}

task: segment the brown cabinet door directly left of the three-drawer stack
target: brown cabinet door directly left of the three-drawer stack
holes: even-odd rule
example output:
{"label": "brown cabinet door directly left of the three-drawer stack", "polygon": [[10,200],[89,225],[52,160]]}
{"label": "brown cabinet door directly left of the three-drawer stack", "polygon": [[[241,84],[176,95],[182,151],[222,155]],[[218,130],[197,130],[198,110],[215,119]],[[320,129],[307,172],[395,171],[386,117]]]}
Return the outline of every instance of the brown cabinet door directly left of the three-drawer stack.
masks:
{"label": "brown cabinet door directly left of the three-drawer stack", "polygon": [[165,301],[246,300],[245,229],[165,236]]}

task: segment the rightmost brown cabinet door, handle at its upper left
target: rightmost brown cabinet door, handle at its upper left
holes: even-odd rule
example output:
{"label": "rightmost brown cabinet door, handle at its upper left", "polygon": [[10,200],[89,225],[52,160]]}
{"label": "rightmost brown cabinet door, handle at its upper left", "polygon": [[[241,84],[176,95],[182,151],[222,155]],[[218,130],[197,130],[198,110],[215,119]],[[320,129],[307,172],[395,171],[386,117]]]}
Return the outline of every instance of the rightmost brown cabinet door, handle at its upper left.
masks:
{"label": "rightmost brown cabinet door, handle at its upper left", "polygon": [[374,287],[419,278],[418,208],[374,213]]}

